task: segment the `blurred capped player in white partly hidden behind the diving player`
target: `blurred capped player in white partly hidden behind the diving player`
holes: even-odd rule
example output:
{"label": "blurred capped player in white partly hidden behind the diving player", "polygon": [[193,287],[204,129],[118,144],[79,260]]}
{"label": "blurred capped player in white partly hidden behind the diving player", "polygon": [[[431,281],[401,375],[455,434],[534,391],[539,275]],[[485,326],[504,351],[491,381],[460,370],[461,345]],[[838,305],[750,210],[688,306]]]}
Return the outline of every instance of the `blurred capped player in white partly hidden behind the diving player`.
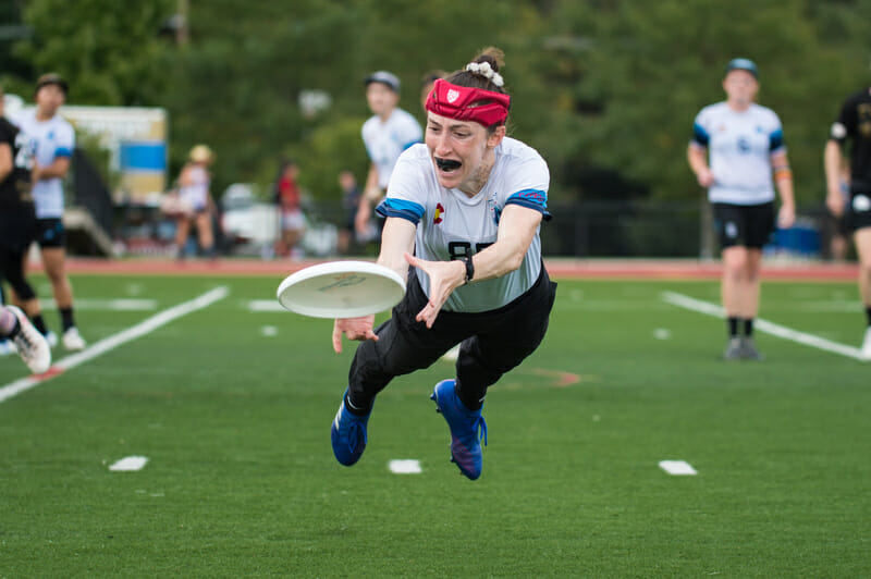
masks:
{"label": "blurred capped player in white partly hidden behind the diving player", "polygon": [[397,107],[400,79],[394,74],[378,71],[367,76],[366,100],[373,114],[361,130],[363,143],[371,161],[355,219],[355,229],[361,241],[372,237],[369,231],[372,207],[383,197],[396,160],[402,151],[420,143],[424,136],[417,120]]}

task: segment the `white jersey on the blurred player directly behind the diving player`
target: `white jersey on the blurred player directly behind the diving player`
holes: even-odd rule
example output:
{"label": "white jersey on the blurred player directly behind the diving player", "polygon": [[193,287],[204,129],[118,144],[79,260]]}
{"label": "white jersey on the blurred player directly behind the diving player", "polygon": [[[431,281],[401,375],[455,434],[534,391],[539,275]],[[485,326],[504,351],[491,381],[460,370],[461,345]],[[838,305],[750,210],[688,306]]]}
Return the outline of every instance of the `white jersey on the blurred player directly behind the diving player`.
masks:
{"label": "white jersey on the blurred player directly behind the diving player", "polygon": [[387,189],[402,151],[422,139],[420,124],[402,109],[393,109],[387,121],[375,115],[363,124],[363,143],[378,171],[379,187]]}

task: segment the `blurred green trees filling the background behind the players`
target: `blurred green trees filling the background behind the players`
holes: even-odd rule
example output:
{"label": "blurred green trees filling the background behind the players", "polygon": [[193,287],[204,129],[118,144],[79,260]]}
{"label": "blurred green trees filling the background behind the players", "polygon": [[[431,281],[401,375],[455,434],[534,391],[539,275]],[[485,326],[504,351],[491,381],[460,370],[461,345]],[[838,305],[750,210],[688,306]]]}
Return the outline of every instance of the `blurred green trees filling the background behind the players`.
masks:
{"label": "blurred green trees filling the background behind the players", "polygon": [[[401,107],[422,119],[421,74],[458,69],[494,45],[506,53],[512,134],[549,161],[553,200],[686,199],[700,194],[685,155],[692,119],[724,98],[724,64],[746,56],[761,70],[760,102],[783,121],[799,201],[817,204],[826,128],[868,83],[871,54],[871,0],[187,5],[189,39],[180,45],[162,32],[172,0],[32,0],[21,14],[32,34],[14,48],[8,89],[27,95],[33,78],[21,71],[29,66],[69,76],[76,104],[165,107],[173,172],[196,143],[218,153],[217,192],[266,185],[293,156],[304,184],[328,198],[336,168],[365,177],[352,127],[369,114],[366,74],[397,74]],[[304,90],[329,95],[329,109],[303,114]]]}

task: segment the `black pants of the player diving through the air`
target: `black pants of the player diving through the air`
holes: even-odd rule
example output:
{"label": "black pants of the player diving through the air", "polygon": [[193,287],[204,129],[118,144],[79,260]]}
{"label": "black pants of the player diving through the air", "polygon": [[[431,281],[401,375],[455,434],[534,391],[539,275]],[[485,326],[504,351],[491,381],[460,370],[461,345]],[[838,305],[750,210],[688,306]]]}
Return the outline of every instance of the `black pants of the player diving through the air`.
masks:
{"label": "black pants of the player diving through the air", "polygon": [[486,392],[541,344],[555,296],[556,284],[542,266],[532,287],[511,304],[476,313],[441,311],[428,329],[415,320],[428,298],[412,270],[405,297],[393,308],[391,319],[376,330],[378,342],[357,347],[348,387],[371,398],[393,378],[428,368],[462,344],[457,380],[464,389]]}

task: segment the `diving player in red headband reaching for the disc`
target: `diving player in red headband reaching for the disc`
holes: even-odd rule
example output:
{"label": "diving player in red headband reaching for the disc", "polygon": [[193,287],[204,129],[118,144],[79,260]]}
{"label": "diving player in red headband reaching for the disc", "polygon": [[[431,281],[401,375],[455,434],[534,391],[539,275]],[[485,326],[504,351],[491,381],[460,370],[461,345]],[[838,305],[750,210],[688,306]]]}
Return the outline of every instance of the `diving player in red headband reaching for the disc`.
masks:
{"label": "diving player in red headband reaching for the disc", "polygon": [[426,145],[400,157],[378,208],[387,218],[378,262],[407,278],[407,291],[377,330],[373,316],[335,321],[336,352],[343,334],[363,341],[331,428],[343,465],[363,455],[376,395],[461,344],[456,379],[439,382],[431,398],[451,430],[452,460],[477,479],[487,389],[544,337],[556,290],[539,238],[550,177],[538,152],[505,137],[501,61],[502,51],[487,49],[436,82]]}

